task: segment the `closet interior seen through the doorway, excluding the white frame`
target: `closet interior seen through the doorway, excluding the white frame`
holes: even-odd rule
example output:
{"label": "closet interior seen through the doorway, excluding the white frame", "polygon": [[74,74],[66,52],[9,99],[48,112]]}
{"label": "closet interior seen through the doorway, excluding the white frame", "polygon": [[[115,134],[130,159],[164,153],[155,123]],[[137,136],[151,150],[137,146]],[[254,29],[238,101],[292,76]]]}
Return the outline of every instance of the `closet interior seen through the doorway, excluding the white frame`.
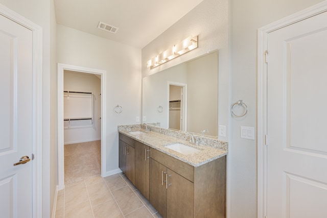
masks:
{"label": "closet interior seen through the doorway, excluding the white frame", "polygon": [[101,75],[64,70],[64,180],[101,173]]}

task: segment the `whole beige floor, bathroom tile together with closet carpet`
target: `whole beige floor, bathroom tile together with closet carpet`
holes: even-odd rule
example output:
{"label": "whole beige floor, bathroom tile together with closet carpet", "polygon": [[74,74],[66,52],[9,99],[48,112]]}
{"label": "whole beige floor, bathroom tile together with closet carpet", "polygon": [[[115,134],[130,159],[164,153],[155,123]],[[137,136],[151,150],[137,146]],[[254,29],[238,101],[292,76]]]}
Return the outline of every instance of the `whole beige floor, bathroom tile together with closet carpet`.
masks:
{"label": "whole beige floor, bathroom tile together with closet carpet", "polygon": [[66,144],[56,217],[161,217],[124,174],[100,176],[101,141]]}

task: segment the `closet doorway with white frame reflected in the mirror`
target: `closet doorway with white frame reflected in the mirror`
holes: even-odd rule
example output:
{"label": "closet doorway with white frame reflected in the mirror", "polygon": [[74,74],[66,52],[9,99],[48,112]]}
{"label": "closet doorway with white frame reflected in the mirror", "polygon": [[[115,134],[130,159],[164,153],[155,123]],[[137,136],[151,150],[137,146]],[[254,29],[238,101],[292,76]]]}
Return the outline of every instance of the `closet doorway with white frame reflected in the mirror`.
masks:
{"label": "closet doorway with white frame reflected in the mirror", "polygon": [[168,127],[186,131],[187,84],[168,82]]}

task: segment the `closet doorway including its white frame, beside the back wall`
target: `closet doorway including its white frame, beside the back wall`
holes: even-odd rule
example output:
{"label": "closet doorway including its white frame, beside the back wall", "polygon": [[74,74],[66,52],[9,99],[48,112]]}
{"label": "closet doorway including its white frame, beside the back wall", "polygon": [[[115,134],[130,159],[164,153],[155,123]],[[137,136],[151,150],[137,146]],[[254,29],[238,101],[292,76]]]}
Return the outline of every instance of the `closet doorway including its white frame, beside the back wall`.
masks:
{"label": "closet doorway including its white frame, beside the back wall", "polygon": [[58,64],[58,180],[105,175],[105,70]]}

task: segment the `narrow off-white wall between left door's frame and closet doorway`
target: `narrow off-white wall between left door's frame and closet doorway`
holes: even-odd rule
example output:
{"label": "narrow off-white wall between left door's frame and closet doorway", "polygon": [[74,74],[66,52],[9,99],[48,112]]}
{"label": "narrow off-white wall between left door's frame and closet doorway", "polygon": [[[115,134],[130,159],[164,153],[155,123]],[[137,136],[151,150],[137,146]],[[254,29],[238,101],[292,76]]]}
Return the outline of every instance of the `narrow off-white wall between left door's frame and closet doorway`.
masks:
{"label": "narrow off-white wall between left door's frame and closet doorway", "polygon": [[[55,73],[52,63],[55,57],[52,56],[54,49],[53,36],[54,28],[54,7],[53,0],[0,0],[0,4],[5,5],[16,13],[26,17],[43,29],[43,217],[50,217],[54,198],[54,189],[57,180],[57,172],[50,162],[50,151],[56,144],[50,143],[50,86],[51,74]],[[50,183],[50,181],[55,183]]]}

